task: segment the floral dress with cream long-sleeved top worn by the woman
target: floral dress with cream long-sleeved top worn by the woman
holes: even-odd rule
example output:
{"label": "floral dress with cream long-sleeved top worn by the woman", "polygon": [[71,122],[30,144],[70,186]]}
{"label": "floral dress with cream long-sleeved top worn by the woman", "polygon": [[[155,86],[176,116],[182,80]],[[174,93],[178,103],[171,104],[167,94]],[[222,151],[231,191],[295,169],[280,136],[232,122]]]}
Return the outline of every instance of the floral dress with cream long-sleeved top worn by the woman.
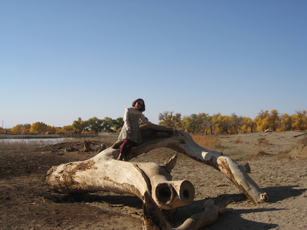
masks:
{"label": "floral dress with cream long-sleeved top worn by the woman", "polygon": [[[122,131],[119,134],[118,139],[130,139],[131,141],[140,144],[142,143],[142,136],[139,126],[139,120],[144,124],[152,125],[150,121],[147,121],[142,112],[139,110],[133,110],[131,108],[127,108],[125,110],[125,124],[122,127]],[[132,134],[128,133],[128,130],[132,131]]]}

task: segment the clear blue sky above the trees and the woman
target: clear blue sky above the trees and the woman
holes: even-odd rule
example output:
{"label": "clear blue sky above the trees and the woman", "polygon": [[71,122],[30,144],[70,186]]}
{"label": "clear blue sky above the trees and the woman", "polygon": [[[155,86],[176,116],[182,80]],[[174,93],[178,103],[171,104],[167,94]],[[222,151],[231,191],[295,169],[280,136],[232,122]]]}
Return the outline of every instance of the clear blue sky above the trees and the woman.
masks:
{"label": "clear blue sky above the trees and the woman", "polygon": [[[307,109],[307,1],[0,1],[4,128]],[[2,126],[2,124],[1,124]]]}

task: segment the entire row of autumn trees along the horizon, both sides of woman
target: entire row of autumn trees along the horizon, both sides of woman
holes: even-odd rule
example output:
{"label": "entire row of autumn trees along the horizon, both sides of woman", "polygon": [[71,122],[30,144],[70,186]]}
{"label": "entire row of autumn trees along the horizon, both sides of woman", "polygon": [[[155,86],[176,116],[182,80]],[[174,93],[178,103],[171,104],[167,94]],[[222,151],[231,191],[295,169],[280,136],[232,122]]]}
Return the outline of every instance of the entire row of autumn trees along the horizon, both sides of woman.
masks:
{"label": "entire row of autumn trees along the horizon, both sides of woman", "polygon": [[[146,117],[145,117],[146,118]],[[147,118],[146,118],[147,119]],[[293,115],[287,113],[278,113],[273,109],[261,110],[258,115],[252,120],[250,117],[238,116],[236,113],[231,113],[230,116],[222,115],[221,113],[193,113],[190,116],[181,116],[181,113],[173,111],[164,111],[159,113],[159,125],[173,127],[184,130],[187,133],[198,134],[239,134],[260,132],[270,129],[271,131],[283,132],[290,130],[307,130],[307,112],[306,110],[295,111]],[[140,125],[142,122],[140,121]],[[43,122],[30,124],[18,124],[10,130],[0,128],[0,133],[81,133],[81,132],[116,132],[124,125],[122,117],[112,119],[105,117],[99,119],[92,117],[83,121],[80,117],[73,121],[72,125],[63,127],[54,127],[46,125]]]}

